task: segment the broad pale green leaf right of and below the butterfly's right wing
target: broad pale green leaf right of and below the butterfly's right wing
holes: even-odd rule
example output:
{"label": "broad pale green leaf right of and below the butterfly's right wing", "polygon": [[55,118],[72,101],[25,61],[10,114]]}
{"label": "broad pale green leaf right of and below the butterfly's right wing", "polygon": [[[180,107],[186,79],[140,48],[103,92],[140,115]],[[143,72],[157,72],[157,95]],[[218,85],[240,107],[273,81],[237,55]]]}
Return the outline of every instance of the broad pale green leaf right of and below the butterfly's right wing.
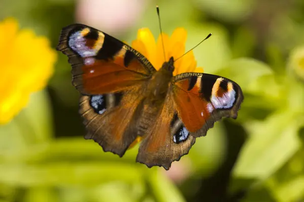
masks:
{"label": "broad pale green leaf right of and below the butterfly's right wing", "polygon": [[248,122],[246,141],[233,175],[265,179],[275,173],[299,149],[297,117],[287,111],[274,113],[265,121]]}

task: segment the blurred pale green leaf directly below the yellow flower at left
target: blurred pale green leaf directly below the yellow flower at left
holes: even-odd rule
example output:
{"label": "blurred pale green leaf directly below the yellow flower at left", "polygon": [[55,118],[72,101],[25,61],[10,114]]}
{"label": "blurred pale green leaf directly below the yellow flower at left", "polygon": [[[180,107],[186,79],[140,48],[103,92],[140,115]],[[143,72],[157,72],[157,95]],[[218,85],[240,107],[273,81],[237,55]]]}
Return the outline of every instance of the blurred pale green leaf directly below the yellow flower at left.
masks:
{"label": "blurred pale green leaf directly below the yellow flower at left", "polygon": [[6,155],[22,155],[33,144],[47,142],[51,136],[48,94],[33,93],[28,105],[9,124],[0,126],[0,161]]}

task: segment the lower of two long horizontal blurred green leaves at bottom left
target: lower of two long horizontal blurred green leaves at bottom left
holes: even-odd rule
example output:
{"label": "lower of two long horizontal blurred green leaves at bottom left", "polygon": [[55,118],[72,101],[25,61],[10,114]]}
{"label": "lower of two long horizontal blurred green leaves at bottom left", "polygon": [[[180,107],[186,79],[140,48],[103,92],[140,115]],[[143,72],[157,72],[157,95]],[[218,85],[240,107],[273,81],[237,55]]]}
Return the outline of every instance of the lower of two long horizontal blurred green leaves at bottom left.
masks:
{"label": "lower of two long horizontal blurred green leaves at bottom left", "polygon": [[96,185],[116,180],[139,183],[142,179],[140,167],[122,162],[65,161],[44,165],[0,165],[0,183],[18,186]]}

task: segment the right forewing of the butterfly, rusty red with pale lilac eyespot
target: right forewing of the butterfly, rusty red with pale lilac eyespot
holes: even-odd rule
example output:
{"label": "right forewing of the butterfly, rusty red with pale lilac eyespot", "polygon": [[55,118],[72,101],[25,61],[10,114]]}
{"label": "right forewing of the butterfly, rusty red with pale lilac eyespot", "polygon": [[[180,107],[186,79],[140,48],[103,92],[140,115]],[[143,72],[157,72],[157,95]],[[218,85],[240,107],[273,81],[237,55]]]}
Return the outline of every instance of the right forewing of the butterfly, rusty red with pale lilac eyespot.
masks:
{"label": "right forewing of the butterfly, rusty red with pale lilac eyespot", "polygon": [[172,90],[178,116],[194,137],[205,136],[222,117],[236,119],[243,102],[237,83],[212,74],[179,74]]}

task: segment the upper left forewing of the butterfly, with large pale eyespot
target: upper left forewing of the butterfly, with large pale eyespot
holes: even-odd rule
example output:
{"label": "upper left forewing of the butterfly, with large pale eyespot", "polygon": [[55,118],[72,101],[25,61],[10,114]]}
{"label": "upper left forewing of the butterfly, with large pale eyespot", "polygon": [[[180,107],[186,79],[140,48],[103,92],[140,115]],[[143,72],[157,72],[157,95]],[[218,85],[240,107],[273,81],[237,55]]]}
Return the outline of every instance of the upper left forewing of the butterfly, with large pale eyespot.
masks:
{"label": "upper left forewing of the butterfly, with large pale eyespot", "polygon": [[156,71],[129,45],[82,24],[62,29],[57,50],[69,58],[73,85],[87,95],[125,90]]}

